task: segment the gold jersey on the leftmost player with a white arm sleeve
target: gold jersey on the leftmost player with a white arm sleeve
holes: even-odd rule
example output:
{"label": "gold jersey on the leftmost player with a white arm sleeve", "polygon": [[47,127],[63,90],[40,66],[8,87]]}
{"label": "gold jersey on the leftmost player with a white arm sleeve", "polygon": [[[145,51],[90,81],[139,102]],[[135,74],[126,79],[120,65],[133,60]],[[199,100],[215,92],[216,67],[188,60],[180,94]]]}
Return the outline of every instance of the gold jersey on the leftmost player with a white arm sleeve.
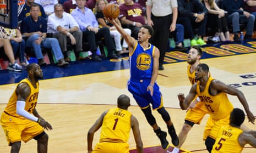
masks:
{"label": "gold jersey on the leftmost player with a white arm sleeve", "polygon": [[[30,90],[31,90],[29,97],[26,98],[26,101],[25,101],[25,110],[31,114],[33,112],[33,110],[35,109],[35,106],[37,103],[37,98],[38,98],[38,94],[39,94],[39,82],[36,83],[36,87],[32,86],[32,84],[30,83],[28,78],[21,80],[19,82],[19,84],[23,83],[23,82],[28,84],[30,87]],[[18,86],[19,86],[19,84],[18,84]],[[4,109],[4,111],[6,111],[11,116],[15,116],[18,118],[24,118],[22,116],[19,116],[16,112],[16,105],[17,105],[17,99],[18,99],[17,94],[16,94],[17,87],[15,88],[13,94],[11,95],[11,97],[8,101],[8,104],[6,106],[6,109]]]}

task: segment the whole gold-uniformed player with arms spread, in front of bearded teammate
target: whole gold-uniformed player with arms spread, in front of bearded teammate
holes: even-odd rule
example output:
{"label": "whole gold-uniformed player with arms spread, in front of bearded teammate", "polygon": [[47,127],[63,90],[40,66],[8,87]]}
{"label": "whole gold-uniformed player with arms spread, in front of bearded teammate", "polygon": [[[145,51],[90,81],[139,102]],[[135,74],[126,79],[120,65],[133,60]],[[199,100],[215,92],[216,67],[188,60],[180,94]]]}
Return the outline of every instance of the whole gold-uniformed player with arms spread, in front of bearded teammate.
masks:
{"label": "whole gold-uniformed player with arms spread, in front of bearded teammate", "polygon": [[203,103],[210,115],[204,130],[204,140],[206,149],[211,152],[217,132],[225,124],[228,124],[230,112],[233,110],[232,103],[228,100],[227,94],[236,95],[242,103],[244,110],[247,112],[249,122],[254,123],[255,117],[249,110],[248,103],[243,93],[219,80],[208,77],[209,66],[206,64],[199,64],[195,69],[195,79],[197,83],[190,88],[187,97],[184,94],[178,94],[179,105],[181,109],[186,110],[189,104],[197,95],[200,98],[198,103]]}

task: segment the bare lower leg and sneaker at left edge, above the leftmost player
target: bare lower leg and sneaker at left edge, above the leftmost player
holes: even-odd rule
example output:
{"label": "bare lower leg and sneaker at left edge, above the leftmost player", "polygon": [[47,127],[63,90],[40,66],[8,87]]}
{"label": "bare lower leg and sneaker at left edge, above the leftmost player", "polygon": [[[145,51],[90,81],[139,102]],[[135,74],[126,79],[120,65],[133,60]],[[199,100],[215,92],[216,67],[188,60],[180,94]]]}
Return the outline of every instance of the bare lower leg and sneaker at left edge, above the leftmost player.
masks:
{"label": "bare lower leg and sneaker at left edge, above the leftmost player", "polygon": [[8,70],[15,71],[15,72],[21,72],[22,67],[15,62],[14,54],[13,54],[13,48],[10,45],[9,39],[0,39],[0,47],[4,48],[4,53],[7,55],[9,59],[9,65]]}

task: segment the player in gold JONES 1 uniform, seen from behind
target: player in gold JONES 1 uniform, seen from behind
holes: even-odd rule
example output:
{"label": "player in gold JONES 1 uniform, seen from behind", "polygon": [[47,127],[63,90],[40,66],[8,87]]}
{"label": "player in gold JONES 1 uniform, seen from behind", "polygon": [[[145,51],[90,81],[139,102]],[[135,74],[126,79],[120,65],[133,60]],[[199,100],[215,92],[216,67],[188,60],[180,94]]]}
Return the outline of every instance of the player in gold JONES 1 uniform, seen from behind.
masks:
{"label": "player in gold JONES 1 uniform, seen from behind", "polygon": [[[133,130],[137,152],[143,152],[143,143],[140,137],[139,123],[129,111],[130,98],[127,95],[120,95],[117,99],[117,107],[106,110],[92,125],[87,135],[88,153],[129,153],[127,143],[130,128]],[[92,151],[92,140],[94,133],[101,127],[100,142]]]}

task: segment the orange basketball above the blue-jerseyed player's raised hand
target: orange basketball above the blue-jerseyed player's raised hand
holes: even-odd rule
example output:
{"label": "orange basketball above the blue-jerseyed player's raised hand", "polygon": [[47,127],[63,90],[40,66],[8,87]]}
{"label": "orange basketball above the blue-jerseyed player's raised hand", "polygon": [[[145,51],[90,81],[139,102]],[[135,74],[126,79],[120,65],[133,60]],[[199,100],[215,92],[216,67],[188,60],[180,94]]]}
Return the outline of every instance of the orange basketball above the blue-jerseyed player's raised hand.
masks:
{"label": "orange basketball above the blue-jerseyed player's raised hand", "polygon": [[103,14],[105,18],[116,19],[119,15],[119,7],[117,4],[109,3],[106,5],[106,7],[103,9]]}

